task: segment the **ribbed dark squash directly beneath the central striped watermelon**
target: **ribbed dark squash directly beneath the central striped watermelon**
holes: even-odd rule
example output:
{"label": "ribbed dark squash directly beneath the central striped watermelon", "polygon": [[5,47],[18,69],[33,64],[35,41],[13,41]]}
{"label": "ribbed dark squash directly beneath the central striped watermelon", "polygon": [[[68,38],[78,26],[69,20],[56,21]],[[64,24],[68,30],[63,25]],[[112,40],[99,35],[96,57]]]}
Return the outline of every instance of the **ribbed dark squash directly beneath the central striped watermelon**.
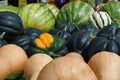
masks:
{"label": "ribbed dark squash directly beneath the central striped watermelon", "polygon": [[78,31],[78,26],[70,23],[60,24],[49,31],[52,35],[57,35],[65,40],[67,40],[74,32]]}

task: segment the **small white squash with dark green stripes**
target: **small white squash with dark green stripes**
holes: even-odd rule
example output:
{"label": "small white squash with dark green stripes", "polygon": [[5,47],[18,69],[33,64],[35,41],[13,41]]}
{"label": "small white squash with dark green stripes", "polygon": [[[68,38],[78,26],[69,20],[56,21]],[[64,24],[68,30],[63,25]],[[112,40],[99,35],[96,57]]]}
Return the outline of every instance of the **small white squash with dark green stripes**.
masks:
{"label": "small white squash with dark green stripes", "polygon": [[92,16],[90,16],[89,22],[96,28],[102,29],[111,24],[111,18],[107,12],[95,11]]}

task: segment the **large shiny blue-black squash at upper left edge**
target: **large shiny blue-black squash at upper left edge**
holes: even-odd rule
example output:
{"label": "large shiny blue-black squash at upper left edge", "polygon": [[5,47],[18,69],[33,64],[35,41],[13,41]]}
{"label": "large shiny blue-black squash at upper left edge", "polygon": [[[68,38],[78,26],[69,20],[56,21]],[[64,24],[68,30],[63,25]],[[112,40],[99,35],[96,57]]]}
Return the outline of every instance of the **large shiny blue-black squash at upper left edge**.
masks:
{"label": "large shiny blue-black squash at upper left edge", "polygon": [[0,33],[5,32],[4,39],[10,42],[23,33],[21,18],[13,12],[0,12]]}

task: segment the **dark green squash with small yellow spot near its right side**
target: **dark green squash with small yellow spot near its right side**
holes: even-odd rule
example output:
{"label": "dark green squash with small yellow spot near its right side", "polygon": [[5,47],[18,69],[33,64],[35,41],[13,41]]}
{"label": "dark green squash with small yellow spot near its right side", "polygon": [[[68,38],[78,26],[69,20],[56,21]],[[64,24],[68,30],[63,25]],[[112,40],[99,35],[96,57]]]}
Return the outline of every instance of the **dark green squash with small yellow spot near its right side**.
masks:
{"label": "dark green squash with small yellow spot near its right side", "polygon": [[68,39],[67,46],[69,51],[75,51],[81,54],[97,33],[98,30],[94,26],[90,24],[81,25],[80,30],[73,33]]}

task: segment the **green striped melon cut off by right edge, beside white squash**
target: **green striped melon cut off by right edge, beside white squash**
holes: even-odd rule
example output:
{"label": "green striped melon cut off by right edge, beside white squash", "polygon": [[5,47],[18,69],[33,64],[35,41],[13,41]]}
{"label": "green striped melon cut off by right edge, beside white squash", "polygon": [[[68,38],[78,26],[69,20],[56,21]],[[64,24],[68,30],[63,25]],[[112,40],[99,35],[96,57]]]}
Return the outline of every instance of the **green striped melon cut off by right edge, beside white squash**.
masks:
{"label": "green striped melon cut off by right edge, beside white squash", "polygon": [[120,25],[120,2],[109,2],[106,3],[101,11],[105,11],[109,14],[113,24]]}

